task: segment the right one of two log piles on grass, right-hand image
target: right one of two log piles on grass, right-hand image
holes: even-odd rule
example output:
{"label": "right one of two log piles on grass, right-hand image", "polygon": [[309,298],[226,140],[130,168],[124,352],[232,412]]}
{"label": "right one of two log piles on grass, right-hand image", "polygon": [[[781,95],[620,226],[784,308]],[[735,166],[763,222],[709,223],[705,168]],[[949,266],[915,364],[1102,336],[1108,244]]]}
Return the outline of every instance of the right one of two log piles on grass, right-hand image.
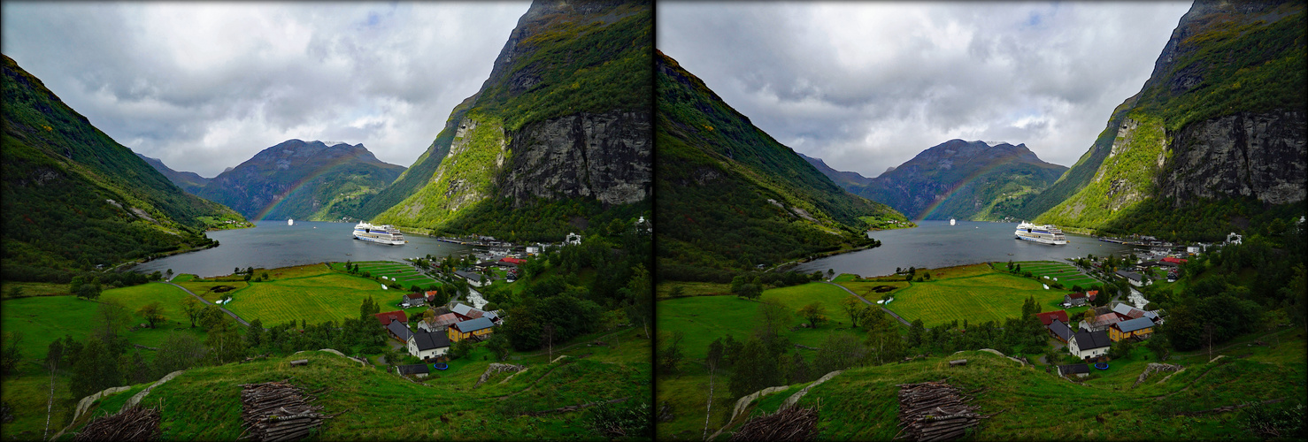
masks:
{"label": "right one of two log piles on grass, right-hand image", "polygon": [[972,398],[944,381],[901,383],[899,387],[901,435],[897,439],[948,441],[994,416],[977,413],[980,408],[968,404]]}

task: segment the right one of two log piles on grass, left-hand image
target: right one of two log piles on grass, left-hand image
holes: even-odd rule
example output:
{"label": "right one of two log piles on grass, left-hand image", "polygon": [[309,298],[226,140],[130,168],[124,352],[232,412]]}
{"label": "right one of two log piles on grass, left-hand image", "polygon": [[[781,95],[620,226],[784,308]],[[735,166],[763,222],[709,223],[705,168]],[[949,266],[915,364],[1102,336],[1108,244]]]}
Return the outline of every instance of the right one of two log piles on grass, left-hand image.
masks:
{"label": "right one of two log piles on grass, left-hand image", "polygon": [[292,441],[305,435],[324,420],[322,407],[309,405],[317,398],[286,382],[243,383],[241,418],[243,438],[255,441]]}

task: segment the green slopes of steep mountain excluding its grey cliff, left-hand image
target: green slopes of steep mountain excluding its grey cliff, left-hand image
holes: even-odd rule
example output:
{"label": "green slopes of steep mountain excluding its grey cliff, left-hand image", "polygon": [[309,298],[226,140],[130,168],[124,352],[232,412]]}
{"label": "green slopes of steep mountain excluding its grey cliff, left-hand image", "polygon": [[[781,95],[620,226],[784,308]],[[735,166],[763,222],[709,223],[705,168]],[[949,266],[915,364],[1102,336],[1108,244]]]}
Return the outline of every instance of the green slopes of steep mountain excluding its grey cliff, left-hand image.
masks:
{"label": "green slopes of steep mountain excluding its grey cliff, left-hand image", "polygon": [[[535,241],[561,239],[572,218],[585,220],[582,224],[610,221],[602,216],[596,220],[596,214],[611,204],[600,204],[602,211],[590,209],[598,195],[532,200],[509,194],[505,186],[517,165],[515,156],[555,145],[579,146],[579,140],[573,139],[552,139],[549,144],[555,145],[545,146],[522,144],[539,133],[542,124],[569,116],[647,110],[651,42],[651,12],[645,3],[532,5],[481,90],[454,109],[422,157],[390,188],[365,201],[360,213],[375,212],[373,222],[434,233],[489,230],[500,233],[497,237]],[[647,135],[640,137],[647,143]],[[585,156],[582,160],[595,163],[560,163],[551,169],[562,175],[574,169],[630,169],[645,162]],[[594,177],[582,177],[581,182],[593,194],[602,191],[603,184]],[[545,177],[527,186],[551,188],[557,183]],[[637,205],[644,209],[623,211],[649,212],[647,203]],[[535,222],[519,222],[521,229],[490,228],[517,216],[515,211],[560,208],[566,212],[561,221],[538,217]]]}

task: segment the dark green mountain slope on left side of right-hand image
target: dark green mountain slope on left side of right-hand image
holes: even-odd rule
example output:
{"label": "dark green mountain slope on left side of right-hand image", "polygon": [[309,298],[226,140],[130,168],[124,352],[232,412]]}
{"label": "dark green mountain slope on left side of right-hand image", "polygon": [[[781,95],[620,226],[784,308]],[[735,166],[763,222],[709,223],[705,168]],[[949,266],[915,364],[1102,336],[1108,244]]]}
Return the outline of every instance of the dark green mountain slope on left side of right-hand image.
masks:
{"label": "dark green mountain slope on left side of right-hand image", "polygon": [[676,60],[655,58],[661,280],[730,280],[738,269],[871,245],[870,226],[905,221],[836,186]]}

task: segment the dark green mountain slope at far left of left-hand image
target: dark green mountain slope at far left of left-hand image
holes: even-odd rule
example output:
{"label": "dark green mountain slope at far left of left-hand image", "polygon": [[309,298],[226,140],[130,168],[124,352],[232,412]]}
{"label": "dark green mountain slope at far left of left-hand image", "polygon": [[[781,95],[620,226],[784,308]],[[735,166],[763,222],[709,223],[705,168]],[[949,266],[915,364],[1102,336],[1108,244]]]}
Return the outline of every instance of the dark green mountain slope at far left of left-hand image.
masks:
{"label": "dark green mountain slope at far left of left-hand image", "polygon": [[174,186],[4,56],[0,204],[5,280],[208,246],[207,222],[243,221]]}

